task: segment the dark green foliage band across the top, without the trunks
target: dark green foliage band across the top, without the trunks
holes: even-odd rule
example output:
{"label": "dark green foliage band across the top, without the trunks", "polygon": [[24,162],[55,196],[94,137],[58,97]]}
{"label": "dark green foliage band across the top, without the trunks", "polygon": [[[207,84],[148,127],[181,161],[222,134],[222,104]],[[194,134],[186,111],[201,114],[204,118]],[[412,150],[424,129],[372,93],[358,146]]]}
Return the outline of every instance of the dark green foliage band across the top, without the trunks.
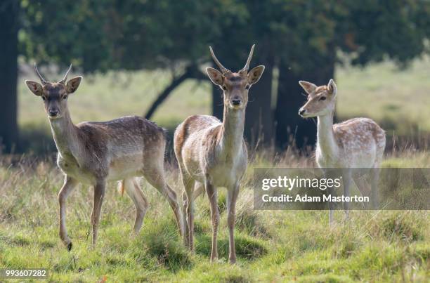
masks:
{"label": "dark green foliage band across the top, without the trunks", "polygon": [[208,44],[237,64],[254,42],[259,57],[283,60],[296,72],[311,72],[334,48],[353,53],[360,65],[386,55],[408,62],[425,51],[430,33],[430,4],[419,0],[22,0],[21,6],[23,55],[76,62],[89,72],[197,62],[209,58]]}

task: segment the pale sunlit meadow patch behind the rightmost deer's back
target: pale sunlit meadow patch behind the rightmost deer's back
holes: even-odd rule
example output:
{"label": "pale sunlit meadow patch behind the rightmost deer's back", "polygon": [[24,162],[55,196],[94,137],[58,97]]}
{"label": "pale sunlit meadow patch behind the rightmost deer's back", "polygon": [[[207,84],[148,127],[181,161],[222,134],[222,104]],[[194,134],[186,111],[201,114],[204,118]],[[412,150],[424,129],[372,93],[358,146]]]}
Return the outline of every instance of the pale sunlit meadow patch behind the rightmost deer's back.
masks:
{"label": "pale sunlit meadow patch behind the rightmost deer's back", "polygon": [[386,131],[410,135],[430,131],[430,58],[398,70],[392,62],[364,69],[340,67],[336,72],[340,119],[370,117]]}

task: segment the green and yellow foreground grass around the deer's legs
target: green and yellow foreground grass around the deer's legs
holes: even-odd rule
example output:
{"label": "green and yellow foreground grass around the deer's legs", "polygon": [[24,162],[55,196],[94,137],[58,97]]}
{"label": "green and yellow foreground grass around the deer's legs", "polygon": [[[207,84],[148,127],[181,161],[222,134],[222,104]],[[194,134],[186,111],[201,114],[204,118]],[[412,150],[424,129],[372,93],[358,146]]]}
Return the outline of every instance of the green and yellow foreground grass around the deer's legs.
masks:
{"label": "green and yellow foreground grass around the deer's legs", "polygon": [[[91,248],[92,190],[79,187],[67,200],[68,252],[58,237],[57,193],[63,176],[52,162],[0,166],[0,266],[48,268],[52,282],[425,282],[429,277],[428,211],[351,211],[329,228],[327,211],[252,209],[252,168],[273,164],[256,154],[237,202],[237,264],[228,262],[226,211],[221,209],[219,261],[209,263],[211,224],[206,197],[196,203],[195,253],[184,249],[166,201],[142,181],[150,207],[141,233],[131,234],[134,208],[111,183],[102,209],[98,244]],[[283,157],[277,166],[303,164]],[[388,157],[384,166],[430,166],[426,152]],[[400,163],[399,163],[400,162]],[[181,190],[178,172],[169,183]],[[225,205],[223,190],[219,204]]]}

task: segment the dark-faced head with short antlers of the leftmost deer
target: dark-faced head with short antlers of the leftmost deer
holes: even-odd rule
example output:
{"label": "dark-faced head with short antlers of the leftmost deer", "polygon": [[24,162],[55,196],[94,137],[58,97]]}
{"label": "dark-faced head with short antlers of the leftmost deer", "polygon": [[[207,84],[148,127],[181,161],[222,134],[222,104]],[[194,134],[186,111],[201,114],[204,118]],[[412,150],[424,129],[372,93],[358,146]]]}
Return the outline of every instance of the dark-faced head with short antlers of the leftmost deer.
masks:
{"label": "dark-faced head with short antlers of the leftmost deer", "polygon": [[42,77],[39,70],[37,70],[37,65],[34,63],[34,70],[39,77],[41,84],[37,81],[25,81],[30,91],[36,96],[40,96],[44,100],[45,111],[48,114],[49,119],[58,119],[67,110],[67,97],[74,93],[81,83],[82,77],[74,77],[67,81],[67,74],[69,74],[72,69],[70,65],[69,70],[67,70],[63,79],[58,82],[49,82]]}

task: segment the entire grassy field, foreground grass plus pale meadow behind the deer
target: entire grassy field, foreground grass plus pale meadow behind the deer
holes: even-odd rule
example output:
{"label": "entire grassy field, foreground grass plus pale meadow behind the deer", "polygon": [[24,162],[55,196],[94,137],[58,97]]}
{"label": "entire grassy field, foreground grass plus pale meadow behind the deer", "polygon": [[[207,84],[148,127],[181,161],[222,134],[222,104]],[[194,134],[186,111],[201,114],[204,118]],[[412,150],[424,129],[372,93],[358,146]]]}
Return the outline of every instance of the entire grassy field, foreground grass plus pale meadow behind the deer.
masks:
{"label": "entire grassy field, foreground grass plus pale meadow behind the deer", "polygon": [[[405,72],[391,62],[363,70],[339,68],[340,119],[371,117],[403,135],[430,132],[429,59]],[[30,79],[33,74],[22,74]],[[52,76],[47,75],[49,79]],[[169,81],[161,71],[108,73],[85,77],[70,98],[75,122],[143,114]],[[115,81],[115,84],[112,83]],[[169,129],[189,114],[210,111],[207,82],[187,81],[156,112]],[[297,94],[299,95],[299,94]],[[19,84],[19,123],[23,135],[51,138],[41,100]],[[180,111],[178,111],[180,110]],[[387,128],[388,127],[388,128]],[[30,141],[31,143],[31,141]],[[39,145],[39,143],[38,143]],[[68,252],[58,237],[58,190],[63,176],[50,157],[22,157],[10,166],[0,158],[0,266],[48,268],[51,282],[428,282],[430,216],[428,211],[256,211],[252,169],[258,166],[314,166],[297,152],[251,152],[237,203],[237,264],[229,265],[226,197],[220,190],[219,261],[209,263],[211,224],[207,197],[196,202],[195,254],[185,250],[173,213],[158,192],[142,180],[150,206],[141,233],[131,234],[135,211],[131,199],[108,187],[98,244],[91,248],[92,190],[79,187],[67,200],[67,228],[74,247]],[[430,167],[426,148],[386,152],[383,166]],[[169,183],[181,192],[175,164]]]}

